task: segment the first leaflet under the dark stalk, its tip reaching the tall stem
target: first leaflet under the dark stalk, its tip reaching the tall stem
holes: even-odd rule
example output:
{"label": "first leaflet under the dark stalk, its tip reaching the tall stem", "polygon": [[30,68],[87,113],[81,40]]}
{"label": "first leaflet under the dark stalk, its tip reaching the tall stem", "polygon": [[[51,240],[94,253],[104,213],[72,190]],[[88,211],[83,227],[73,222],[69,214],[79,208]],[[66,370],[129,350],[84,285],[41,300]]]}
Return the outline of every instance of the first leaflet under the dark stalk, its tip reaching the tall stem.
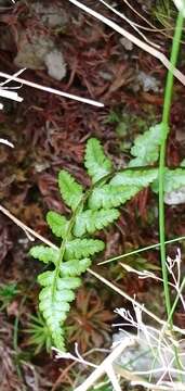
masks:
{"label": "first leaflet under the dark stalk, its tip reaching the tall stem", "polygon": [[124,169],[115,175],[110,180],[113,186],[147,187],[158,177],[158,168],[150,169]]}

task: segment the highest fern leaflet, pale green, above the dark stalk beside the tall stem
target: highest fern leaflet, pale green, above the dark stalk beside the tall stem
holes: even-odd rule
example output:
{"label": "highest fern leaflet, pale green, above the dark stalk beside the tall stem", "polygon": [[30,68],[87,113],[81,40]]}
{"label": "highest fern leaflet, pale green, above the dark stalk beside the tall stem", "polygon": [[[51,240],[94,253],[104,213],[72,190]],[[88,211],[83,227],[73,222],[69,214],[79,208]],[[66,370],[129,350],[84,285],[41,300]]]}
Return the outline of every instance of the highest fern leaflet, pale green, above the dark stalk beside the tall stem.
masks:
{"label": "highest fern leaflet, pale green, above the dark stalk beside the tall stem", "polygon": [[159,148],[162,141],[162,124],[151,126],[144,135],[136,137],[131,153],[135,159],[129,167],[144,166],[155,163],[159,157]]}

